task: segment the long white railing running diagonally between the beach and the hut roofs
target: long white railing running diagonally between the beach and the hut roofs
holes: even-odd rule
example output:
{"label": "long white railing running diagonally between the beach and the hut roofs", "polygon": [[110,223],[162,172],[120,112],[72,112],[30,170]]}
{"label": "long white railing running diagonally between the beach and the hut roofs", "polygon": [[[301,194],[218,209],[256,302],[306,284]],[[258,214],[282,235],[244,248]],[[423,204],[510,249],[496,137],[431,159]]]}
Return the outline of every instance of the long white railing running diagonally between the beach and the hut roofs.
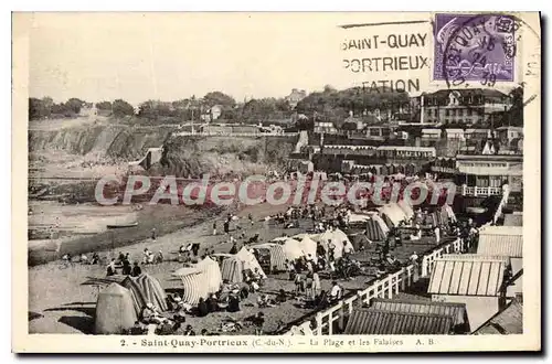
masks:
{"label": "long white railing running diagonally between the beach and the hut roofs", "polygon": [[[418,278],[428,276],[435,266],[435,259],[442,257],[443,254],[460,253],[463,250],[464,242],[458,238],[425,255],[422,259],[421,276],[415,265],[402,267],[400,270],[389,274],[385,278],[376,280],[364,290],[357,292],[357,295],[342,299],[333,307],[318,312],[315,318],[316,330],[312,334],[333,334],[333,323],[339,320],[340,328],[343,328],[346,315],[351,314],[355,304],[362,307],[363,304],[370,304],[370,301],[374,298],[393,298],[394,295],[404,291],[407,287],[416,282]],[[307,331],[306,329],[310,328],[310,321],[304,322],[298,326]]]}

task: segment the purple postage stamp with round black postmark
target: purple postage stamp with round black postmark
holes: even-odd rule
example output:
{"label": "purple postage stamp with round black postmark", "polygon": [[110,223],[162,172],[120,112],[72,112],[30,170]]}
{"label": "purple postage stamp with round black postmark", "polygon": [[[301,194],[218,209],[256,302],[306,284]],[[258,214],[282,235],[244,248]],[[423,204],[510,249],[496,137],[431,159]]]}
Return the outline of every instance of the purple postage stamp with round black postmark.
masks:
{"label": "purple postage stamp with round black postmark", "polygon": [[449,86],[513,82],[518,26],[511,15],[436,14],[433,78]]}

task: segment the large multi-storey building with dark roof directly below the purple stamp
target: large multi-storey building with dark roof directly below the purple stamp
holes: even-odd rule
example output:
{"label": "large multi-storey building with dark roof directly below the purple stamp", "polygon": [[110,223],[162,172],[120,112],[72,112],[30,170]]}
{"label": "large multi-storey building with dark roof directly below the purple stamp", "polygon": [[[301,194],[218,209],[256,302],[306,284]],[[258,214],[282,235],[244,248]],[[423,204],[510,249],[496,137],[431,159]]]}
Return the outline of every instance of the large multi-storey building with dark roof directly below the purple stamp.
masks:
{"label": "large multi-storey building with dark roof directly below the purple stamp", "polygon": [[420,96],[421,124],[478,125],[486,116],[510,109],[511,97],[496,89],[440,89]]}

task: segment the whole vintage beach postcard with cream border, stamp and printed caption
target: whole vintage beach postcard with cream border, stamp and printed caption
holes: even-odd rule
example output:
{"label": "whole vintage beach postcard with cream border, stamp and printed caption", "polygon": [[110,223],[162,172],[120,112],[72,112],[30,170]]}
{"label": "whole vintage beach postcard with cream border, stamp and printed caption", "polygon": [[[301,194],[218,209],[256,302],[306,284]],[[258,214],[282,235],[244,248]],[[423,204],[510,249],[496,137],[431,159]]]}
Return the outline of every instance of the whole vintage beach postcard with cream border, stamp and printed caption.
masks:
{"label": "whole vintage beach postcard with cream border, stamp and printed caption", "polygon": [[12,38],[14,352],[541,350],[538,12]]}

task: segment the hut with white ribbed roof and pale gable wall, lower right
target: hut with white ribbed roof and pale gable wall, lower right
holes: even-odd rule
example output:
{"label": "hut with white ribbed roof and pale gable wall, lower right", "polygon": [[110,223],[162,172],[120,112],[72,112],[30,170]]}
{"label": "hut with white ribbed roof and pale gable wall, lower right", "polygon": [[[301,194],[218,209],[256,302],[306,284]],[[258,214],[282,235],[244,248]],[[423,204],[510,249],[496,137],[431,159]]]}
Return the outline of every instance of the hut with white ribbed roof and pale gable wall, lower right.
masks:
{"label": "hut with white ribbed roof and pale gable wall, lower right", "polygon": [[444,256],[435,260],[427,293],[434,302],[466,304],[470,328],[479,328],[501,308],[506,268],[503,258]]}

